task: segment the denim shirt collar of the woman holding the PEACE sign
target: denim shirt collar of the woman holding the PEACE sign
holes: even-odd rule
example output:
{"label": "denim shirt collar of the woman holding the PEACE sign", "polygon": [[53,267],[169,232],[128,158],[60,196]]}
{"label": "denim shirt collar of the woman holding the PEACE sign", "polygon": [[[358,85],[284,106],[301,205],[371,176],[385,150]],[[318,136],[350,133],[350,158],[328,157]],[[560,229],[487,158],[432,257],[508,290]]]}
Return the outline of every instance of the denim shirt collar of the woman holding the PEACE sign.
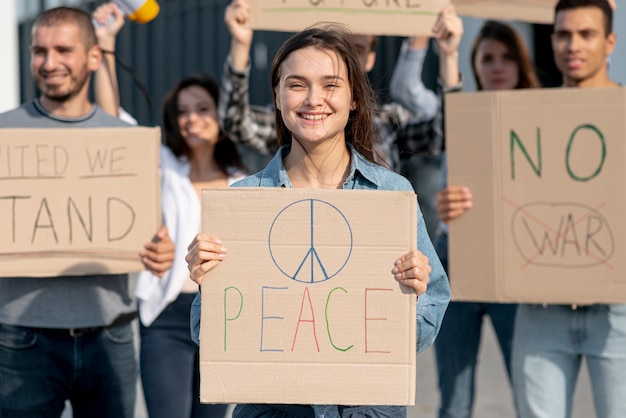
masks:
{"label": "denim shirt collar of the woman holding the PEACE sign", "polygon": [[[377,175],[377,170],[375,168],[378,167],[378,165],[367,161],[365,157],[359,154],[351,144],[347,144],[347,146],[350,150],[350,173],[343,184],[343,188],[379,189],[381,186],[381,179]],[[280,147],[267,167],[265,167],[265,169],[260,173],[261,187],[292,187],[289,176],[287,175],[287,170],[283,164],[283,159],[289,154],[290,150],[290,144]]]}

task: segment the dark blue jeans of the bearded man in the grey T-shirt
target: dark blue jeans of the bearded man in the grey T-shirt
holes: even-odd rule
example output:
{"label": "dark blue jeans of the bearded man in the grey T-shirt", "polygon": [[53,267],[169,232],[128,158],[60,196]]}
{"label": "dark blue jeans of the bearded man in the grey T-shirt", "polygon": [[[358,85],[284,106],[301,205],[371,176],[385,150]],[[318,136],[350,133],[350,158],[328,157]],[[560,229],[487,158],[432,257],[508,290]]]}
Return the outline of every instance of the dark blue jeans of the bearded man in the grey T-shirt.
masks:
{"label": "dark blue jeans of the bearded man in the grey T-shirt", "polygon": [[132,418],[137,363],[130,324],[71,336],[68,330],[0,324],[0,415]]}

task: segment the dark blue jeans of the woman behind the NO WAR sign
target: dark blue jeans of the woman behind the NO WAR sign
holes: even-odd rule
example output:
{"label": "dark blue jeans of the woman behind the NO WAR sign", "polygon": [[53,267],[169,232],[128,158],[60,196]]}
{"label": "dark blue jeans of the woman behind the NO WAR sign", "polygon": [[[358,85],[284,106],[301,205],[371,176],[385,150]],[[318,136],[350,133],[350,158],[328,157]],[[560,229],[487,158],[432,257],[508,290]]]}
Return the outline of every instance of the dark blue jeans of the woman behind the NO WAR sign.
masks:
{"label": "dark blue jeans of the woman behind the NO WAR sign", "polygon": [[[448,237],[437,238],[437,253],[448,269]],[[454,280],[454,278],[450,278]],[[440,418],[469,418],[474,407],[478,349],[483,318],[489,316],[500,345],[509,380],[511,347],[517,305],[502,303],[450,302],[435,340],[439,377]]]}

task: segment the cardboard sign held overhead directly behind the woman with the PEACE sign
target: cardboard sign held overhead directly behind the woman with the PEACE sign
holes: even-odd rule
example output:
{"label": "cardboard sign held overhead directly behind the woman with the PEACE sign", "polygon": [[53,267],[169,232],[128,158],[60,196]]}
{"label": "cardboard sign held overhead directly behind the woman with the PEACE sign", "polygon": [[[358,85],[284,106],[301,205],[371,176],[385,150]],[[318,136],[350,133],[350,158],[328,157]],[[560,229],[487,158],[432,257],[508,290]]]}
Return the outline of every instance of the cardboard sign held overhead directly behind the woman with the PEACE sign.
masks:
{"label": "cardboard sign held overhead directly behind the woman with the PEACE sign", "polygon": [[449,0],[255,0],[254,29],[297,32],[319,22],[338,22],[357,34],[432,35],[437,15]]}

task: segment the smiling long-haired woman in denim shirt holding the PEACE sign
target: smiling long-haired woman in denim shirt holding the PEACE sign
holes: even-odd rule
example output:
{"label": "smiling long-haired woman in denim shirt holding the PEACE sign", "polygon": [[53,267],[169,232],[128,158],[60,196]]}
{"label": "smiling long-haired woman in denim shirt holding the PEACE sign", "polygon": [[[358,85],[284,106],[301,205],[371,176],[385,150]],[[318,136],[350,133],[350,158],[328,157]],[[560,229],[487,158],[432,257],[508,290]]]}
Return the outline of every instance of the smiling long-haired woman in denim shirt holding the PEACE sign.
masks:
{"label": "smiling long-haired woman in denim shirt holding the PEACE sign", "polygon": [[[272,63],[271,83],[281,147],[264,170],[237,186],[413,190],[405,178],[374,162],[373,94],[348,35],[335,26],[309,28],[280,48]],[[203,275],[227,256],[225,246],[228,243],[217,237],[197,235],[187,255],[191,278],[201,284]],[[419,209],[417,249],[400,255],[389,271],[388,280],[397,280],[419,295],[417,351],[422,351],[437,335],[450,289]],[[199,299],[198,295],[191,312],[196,340]],[[233,416],[333,418],[340,414],[402,417],[406,408],[238,405]]]}

